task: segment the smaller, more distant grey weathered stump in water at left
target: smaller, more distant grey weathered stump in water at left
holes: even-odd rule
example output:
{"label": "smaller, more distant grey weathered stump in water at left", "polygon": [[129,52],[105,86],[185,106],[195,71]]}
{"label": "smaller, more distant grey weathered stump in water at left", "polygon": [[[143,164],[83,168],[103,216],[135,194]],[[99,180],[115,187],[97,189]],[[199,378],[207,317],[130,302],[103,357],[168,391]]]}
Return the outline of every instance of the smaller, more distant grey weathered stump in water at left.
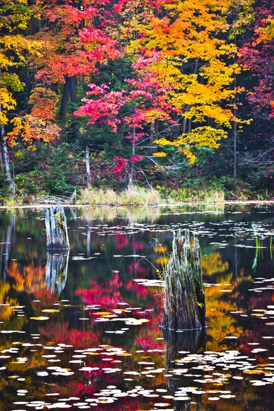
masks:
{"label": "smaller, more distant grey weathered stump in water at left", "polygon": [[47,209],[45,215],[48,250],[68,250],[69,236],[64,208],[59,205]]}

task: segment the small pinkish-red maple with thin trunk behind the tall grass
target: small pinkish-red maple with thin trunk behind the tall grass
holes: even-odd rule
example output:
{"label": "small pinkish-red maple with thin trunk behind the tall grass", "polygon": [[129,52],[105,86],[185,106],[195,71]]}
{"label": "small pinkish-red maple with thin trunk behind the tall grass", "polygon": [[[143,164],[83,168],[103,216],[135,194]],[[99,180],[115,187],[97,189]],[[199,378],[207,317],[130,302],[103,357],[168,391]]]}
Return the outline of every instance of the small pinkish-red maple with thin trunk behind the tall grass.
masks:
{"label": "small pinkish-red maple with thin trunk behind the tall grass", "polygon": [[[88,124],[99,121],[108,125],[112,132],[119,130],[125,134],[125,138],[132,145],[132,155],[127,160],[121,156],[116,157],[114,173],[116,177],[121,177],[129,162],[129,184],[132,184],[134,178],[134,164],[143,157],[136,155],[136,148],[142,140],[147,139],[145,125],[153,123],[155,119],[172,121],[172,107],[165,95],[169,84],[160,82],[158,73],[151,71],[151,64],[158,60],[157,53],[149,57],[140,55],[138,60],[132,63],[136,78],[125,79],[127,88],[121,91],[110,90],[107,84],[90,84],[87,95],[93,98],[82,99],[84,105],[75,112],[77,116],[88,116]],[[123,108],[127,110],[121,112]]]}

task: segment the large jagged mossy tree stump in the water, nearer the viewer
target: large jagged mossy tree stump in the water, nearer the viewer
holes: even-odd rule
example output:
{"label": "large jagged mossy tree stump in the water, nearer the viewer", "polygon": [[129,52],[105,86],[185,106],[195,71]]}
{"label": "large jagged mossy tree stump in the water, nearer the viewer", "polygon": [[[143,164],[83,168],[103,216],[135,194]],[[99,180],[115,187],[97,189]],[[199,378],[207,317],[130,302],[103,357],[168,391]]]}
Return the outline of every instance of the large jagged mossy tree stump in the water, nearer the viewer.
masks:
{"label": "large jagged mossy tree stump in the water, nearer the viewer", "polygon": [[173,238],[173,254],[166,269],[164,314],[165,329],[199,329],[206,326],[206,299],[201,277],[199,240],[193,238],[190,248],[189,231]]}

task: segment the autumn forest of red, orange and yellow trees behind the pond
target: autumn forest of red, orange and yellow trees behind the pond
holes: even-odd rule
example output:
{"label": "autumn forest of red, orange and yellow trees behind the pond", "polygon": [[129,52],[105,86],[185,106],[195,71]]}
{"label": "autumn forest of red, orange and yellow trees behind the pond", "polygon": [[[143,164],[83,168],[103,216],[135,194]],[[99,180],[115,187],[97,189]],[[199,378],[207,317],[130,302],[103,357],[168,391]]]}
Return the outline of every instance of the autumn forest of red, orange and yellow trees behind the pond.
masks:
{"label": "autumn forest of red, orange and yellow trees behind the pond", "polygon": [[0,4],[0,203],[273,198],[273,1]]}

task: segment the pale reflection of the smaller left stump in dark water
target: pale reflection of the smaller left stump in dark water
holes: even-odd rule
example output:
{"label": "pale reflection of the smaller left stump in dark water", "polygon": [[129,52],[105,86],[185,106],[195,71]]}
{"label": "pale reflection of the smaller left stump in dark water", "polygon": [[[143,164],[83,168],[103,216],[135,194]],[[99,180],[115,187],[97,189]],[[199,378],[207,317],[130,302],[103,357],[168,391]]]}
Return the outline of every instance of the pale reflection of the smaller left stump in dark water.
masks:
{"label": "pale reflection of the smaller left stump in dark water", "polygon": [[47,288],[51,288],[51,292],[55,290],[55,286],[57,286],[58,294],[64,290],[68,274],[68,265],[69,251],[66,253],[61,251],[58,254],[54,254],[51,251],[47,252],[46,283]]}

